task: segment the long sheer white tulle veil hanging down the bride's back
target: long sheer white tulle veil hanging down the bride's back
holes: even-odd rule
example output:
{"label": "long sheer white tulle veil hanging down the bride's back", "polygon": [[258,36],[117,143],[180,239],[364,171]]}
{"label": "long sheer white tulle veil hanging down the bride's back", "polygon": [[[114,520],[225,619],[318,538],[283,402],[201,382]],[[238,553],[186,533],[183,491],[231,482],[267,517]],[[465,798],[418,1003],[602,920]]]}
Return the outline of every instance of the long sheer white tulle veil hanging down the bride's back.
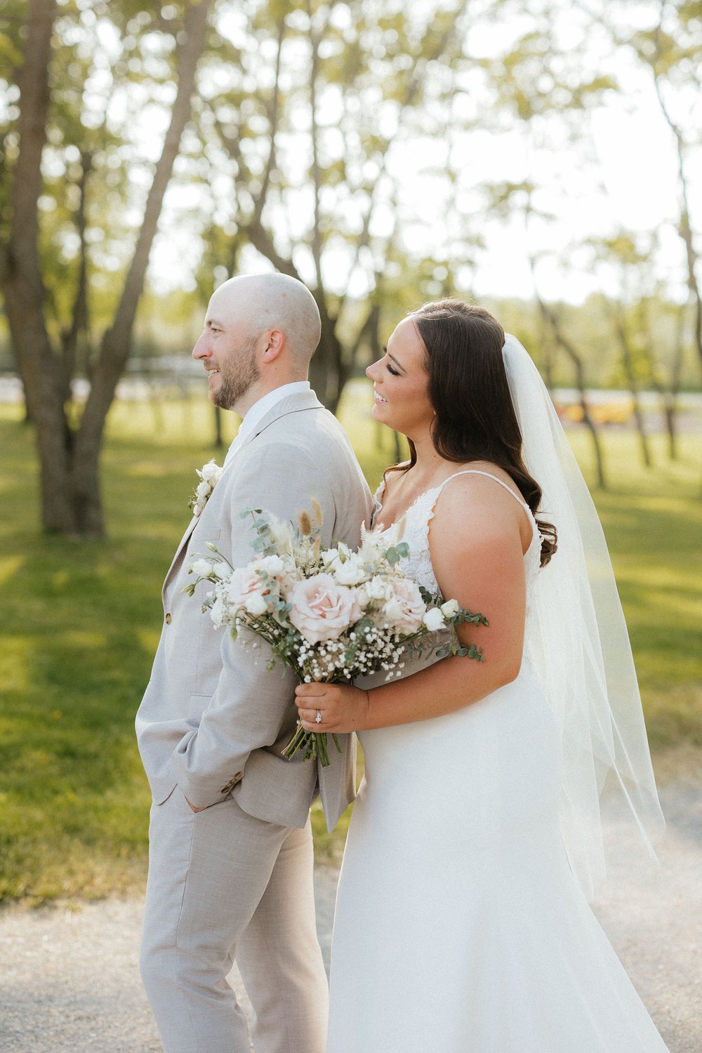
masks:
{"label": "long sheer white tulle veil hanging down the bride's back", "polygon": [[539,372],[514,336],[503,357],[524,461],[543,491],[539,513],[558,530],[558,552],[533,589],[526,644],[560,729],[563,839],[591,898],[610,855],[633,866],[656,861],[653,842],[664,821],[595,504]]}

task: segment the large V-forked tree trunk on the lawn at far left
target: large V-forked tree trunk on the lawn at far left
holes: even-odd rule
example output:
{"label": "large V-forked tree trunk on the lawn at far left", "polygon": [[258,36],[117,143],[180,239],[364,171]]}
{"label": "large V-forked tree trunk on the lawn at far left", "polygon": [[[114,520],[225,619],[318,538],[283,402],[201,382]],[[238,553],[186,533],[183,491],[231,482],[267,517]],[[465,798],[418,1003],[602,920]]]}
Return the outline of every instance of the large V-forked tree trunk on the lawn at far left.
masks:
{"label": "large V-forked tree trunk on the lawn at far left", "polygon": [[190,116],[195,73],[202,53],[210,0],[187,7],[179,77],[171,126],[156,165],[144,219],[111,327],[105,332],[92,376],[80,428],[72,433],[64,412],[62,364],[52,347],[44,320],[44,286],[39,257],[37,202],[41,155],[46,140],[55,0],[31,0],[25,58],[20,71],[20,146],[15,167],[9,243],[0,253],[2,281],[13,342],[36,424],[41,465],[42,522],[65,534],[104,532],[99,461],[105,418],[131,351],[132,332],[144,285],[152,244],[165,191]]}

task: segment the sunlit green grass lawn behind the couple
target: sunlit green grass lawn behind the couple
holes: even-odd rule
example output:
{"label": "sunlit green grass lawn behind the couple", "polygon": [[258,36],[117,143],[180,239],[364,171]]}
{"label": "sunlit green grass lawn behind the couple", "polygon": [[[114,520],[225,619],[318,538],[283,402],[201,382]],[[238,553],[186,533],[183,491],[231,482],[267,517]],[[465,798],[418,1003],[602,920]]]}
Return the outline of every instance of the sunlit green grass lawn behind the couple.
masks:
{"label": "sunlit green grass lawn behind the couple", "polygon": [[[366,391],[342,406],[368,481],[393,458],[379,446]],[[235,431],[227,421],[226,438]],[[143,881],[148,792],[134,715],[161,627],[160,585],[188,521],[195,469],[213,456],[212,409],[118,404],[103,460],[108,536],[73,541],[38,526],[33,436],[0,408],[0,899],[96,897]],[[702,437],[681,460],[638,464],[634,437],[605,437],[611,490],[597,495],[661,755],[702,744]],[[574,446],[591,478],[585,436]],[[219,459],[219,458],[218,458]],[[314,814],[318,851],[338,852]]]}

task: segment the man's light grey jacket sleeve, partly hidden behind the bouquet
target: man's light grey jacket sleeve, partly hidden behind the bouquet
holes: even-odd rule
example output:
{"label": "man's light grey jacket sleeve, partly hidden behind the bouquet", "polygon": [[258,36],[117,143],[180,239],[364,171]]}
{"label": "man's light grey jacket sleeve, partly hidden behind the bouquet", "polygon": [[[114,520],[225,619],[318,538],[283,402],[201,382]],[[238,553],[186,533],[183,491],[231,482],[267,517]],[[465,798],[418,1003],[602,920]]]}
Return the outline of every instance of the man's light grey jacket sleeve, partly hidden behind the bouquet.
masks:
{"label": "man's light grey jacket sleeve, partly hidden behind the bouquet", "polygon": [[[242,458],[243,461],[243,458]],[[253,533],[241,518],[245,509],[272,512],[297,525],[302,509],[310,499],[319,501],[324,515],[323,543],[334,535],[336,511],[328,482],[320,475],[314,457],[293,443],[265,443],[253,450],[232,482],[232,558],[234,567],[244,567],[255,558]],[[215,693],[199,727],[183,736],[172,757],[181,790],[197,808],[222,800],[230,780],[245,774],[252,751],[272,746],[293,703],[296,679],[280,663],[266,670],[268,644],[256,640],[252,647],[234,641],[222,632],[222,669]]]}

